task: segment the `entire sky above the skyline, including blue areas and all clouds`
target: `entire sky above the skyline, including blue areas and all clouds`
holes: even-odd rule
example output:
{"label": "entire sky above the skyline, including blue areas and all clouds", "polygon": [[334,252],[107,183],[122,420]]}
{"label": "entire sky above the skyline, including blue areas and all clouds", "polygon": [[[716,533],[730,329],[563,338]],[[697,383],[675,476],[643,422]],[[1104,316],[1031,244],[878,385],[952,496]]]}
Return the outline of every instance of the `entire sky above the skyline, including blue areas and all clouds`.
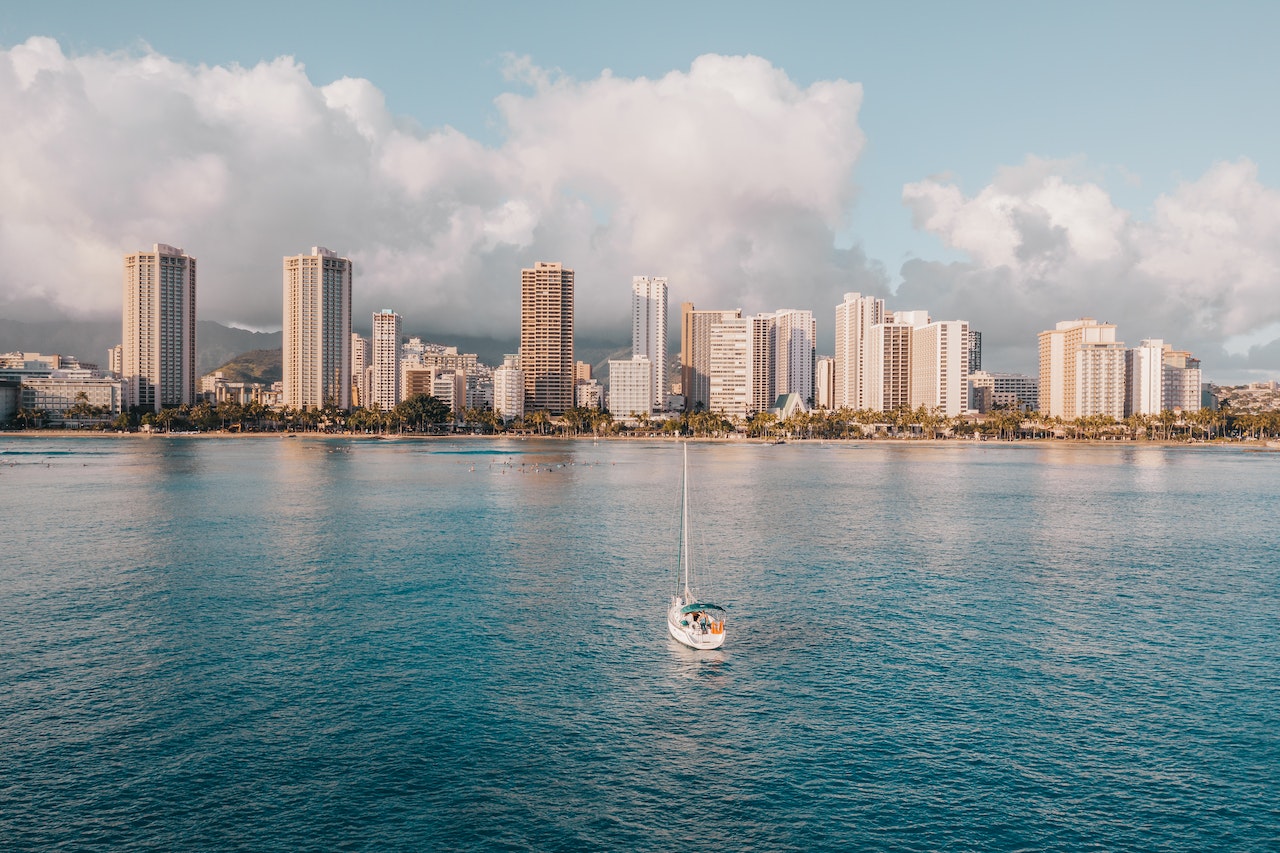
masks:
{"label": "entire sky above the skyline, including blue areas and all clouds", "polygon": [[[0,10],[0,318],[106,319],[120,259],[198,259],[201,319],[282,324],[280,259],[356,327],[515,338],[576,272],[625,342],[678,304],[846,292],[983,333],[1092,316],[1280,379],[1280,4],[58,3]],[[361,321],[364,319],[364,323]],[[677,334],[672,329],[672,334]]]}

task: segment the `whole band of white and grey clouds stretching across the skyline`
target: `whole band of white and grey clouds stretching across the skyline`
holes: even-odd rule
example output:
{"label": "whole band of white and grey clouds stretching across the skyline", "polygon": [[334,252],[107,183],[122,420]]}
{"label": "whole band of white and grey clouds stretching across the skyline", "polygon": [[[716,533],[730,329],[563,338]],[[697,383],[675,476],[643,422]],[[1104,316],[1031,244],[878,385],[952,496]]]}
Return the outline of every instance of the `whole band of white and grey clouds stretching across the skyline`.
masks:
{"label": "whole band of white and grey clouds stretching across the skyline", "polygon": [[122,255],[166,242],[200,259],[201,319],[279,328],[282,256],[323,245],[356,264],[357,328],[389,307],[442,341],[516,337],[518,270],[559,260],[582,337],[626,339],[648,274],[673,304],[812,309],[823,348],[841,293],[861,291],[969,320],[992,370],[1034,371],[1036,333],[1091,315],[1192,350],[1211,378],[1280,375],[1280,192],[1247,159],[1142,215],[1083,159],[1029,156],[973,195],[909,183],[915,227],[966,260],[911,260],[891,293],[881,264],[837,246],[865,146],[858,83],[719,55],[653,79],[521,58],[507,73],[485,145],[287,56],[0,50],[0,318],[114,319]]}

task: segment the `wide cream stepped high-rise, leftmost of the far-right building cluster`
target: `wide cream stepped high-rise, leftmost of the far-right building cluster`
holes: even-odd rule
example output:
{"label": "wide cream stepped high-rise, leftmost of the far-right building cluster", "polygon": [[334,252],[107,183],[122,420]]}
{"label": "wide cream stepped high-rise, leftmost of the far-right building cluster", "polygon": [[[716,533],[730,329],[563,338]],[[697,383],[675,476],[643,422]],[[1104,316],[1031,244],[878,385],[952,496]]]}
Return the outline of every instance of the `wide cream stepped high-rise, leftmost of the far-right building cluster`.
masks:
{"label": "wide cream stepped high-rise, leftmost of the far-right building cluster", "polygon": [[[1110,400],[1119,389],[1119,403],[1111,406],[1106,403],[1106,411],[1119,412],[1116,418],[1124,418],[1124,357],[1120,357],[1119,379],[1112,375],[1114,365],[1110,356],[1093,352],[1089,355],[1088,383],[1105,380],[1107,383],[1119,382],[1116,388],[1107,388],[1105,392],[1094,389],[1087,384],[1089,402],[1085,405],[1082,398],[1080,368],[1082,352],[1085,346],[1097,350],[1106,350],[1108,345],[1116,343],[1116,327],[1111,323],[1098,323],[1093,318],[1080,318],[1078,320],[1062,320],[1056,328],[1039,333],[1039,398],[1041,412],[1051,418],[1075,420],[1082,415],[1098,414],[1102,400]],[[1120,345],[1121,348],[1124,345]]]}

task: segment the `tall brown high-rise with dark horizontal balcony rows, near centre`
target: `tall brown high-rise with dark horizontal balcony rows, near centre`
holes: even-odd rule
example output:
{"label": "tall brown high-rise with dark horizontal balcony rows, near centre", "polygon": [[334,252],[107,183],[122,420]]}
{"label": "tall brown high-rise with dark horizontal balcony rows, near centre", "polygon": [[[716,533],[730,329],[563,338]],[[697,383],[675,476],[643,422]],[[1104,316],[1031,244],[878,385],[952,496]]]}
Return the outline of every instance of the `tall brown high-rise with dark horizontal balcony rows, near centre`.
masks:
{"label": "tall brown high-rise with dark horizontal balcony rows, near centre", "polygon": [[520,366],[526,410],[573,407],[573,270],[562,264],[520,270]]}

